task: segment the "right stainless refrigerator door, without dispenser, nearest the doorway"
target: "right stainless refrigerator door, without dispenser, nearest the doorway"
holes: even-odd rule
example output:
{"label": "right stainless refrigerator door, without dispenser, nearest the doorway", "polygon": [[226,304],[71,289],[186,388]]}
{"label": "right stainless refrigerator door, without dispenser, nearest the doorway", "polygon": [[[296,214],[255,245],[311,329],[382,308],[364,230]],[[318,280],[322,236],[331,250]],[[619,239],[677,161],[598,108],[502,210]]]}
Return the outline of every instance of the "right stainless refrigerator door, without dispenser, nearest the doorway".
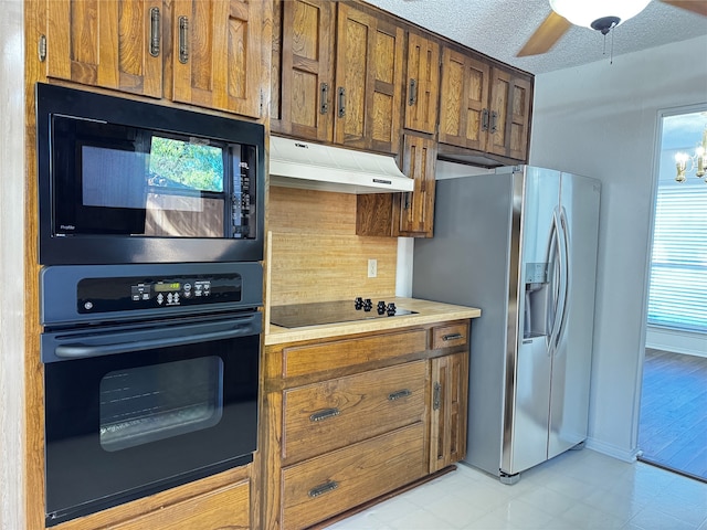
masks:
{"label": "right stainless refrigerator door, without dispenser, nearest the doorway", "polygon": [[587,438],[599,237],[599,181],[562,173],[560,190],[567,300],[552,359],[548,458]]}

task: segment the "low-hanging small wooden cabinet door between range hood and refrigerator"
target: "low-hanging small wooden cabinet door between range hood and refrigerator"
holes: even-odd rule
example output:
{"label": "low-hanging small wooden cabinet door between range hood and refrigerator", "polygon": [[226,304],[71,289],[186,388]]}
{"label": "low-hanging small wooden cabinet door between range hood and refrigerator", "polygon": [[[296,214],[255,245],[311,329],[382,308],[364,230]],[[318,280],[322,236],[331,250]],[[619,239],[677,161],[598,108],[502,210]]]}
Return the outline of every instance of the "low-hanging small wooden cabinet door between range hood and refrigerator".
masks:
{"label": "low-hanging small wooden cabinet door between range hood and refrigerator", "polygon": [[436,141],[414,135],[404,136],[403,173],[415,180],[414,190],[400,193],[393,202],[398,234],[407,237],[432,237],[434,222],[434,167]]}

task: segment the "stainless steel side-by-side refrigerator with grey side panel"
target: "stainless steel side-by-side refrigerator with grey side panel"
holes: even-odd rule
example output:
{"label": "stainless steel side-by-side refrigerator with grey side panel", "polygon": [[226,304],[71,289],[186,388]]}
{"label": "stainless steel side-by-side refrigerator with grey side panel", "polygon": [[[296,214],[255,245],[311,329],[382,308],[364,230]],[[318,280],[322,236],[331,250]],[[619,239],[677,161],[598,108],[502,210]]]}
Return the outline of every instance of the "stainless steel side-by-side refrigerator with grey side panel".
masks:
{"label": "stainless steel side-by-side refrigerator with grey side panel", "polygon": [[517,166],[439,180],[415,298],[474,306],[465,462],[513,484],[587,437],[600,182]]}

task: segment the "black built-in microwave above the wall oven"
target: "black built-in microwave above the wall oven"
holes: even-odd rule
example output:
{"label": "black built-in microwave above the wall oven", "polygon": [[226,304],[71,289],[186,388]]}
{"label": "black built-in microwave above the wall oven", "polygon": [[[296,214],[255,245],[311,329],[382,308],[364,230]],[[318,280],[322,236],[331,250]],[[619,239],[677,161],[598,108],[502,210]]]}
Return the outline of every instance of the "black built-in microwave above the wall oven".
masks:
{"label": "black built-in microwave above the wall oven", "polygon": [[264,127],[36,84],[42,265],[263,258]]}

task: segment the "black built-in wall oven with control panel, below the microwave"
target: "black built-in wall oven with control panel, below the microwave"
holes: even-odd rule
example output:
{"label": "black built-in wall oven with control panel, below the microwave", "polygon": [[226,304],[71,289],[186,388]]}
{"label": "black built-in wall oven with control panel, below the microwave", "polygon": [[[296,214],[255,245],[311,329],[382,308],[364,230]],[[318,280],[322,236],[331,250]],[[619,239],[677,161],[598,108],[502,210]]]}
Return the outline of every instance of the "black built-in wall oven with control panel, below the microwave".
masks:
{"label": "black built-in wall oven with control panel, below the microwave", "polygon": [[258,263],[41,273],[46,524],[252,460]]}

